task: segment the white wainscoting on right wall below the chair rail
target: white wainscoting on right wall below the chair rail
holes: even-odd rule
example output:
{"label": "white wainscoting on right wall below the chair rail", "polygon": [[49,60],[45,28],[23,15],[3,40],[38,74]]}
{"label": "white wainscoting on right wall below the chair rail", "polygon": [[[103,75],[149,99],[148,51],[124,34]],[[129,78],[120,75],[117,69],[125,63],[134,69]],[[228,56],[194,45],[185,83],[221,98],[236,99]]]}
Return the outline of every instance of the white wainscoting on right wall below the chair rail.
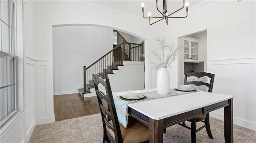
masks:
{"label": "white wainscoting on right wall below the chair rail", "polygon": [[[212,62],[210,72],[215,74],[212,92],[234,96],[234,124],[256,130],[256,63],[244,60]],[[223,110],[211,114],[224,115]]]}

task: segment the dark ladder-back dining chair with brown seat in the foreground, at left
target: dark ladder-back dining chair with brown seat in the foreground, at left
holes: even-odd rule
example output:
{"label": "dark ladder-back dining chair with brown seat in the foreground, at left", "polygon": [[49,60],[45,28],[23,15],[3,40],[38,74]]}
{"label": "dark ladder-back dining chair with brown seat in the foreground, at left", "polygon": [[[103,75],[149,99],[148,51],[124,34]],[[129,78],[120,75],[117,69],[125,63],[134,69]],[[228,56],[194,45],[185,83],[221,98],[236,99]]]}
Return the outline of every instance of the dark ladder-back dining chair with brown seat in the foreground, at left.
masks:
{"label": "dark ladder-back dining chair with brown seat in the foreground, at left", "polygon": [[[103,123],[103,143],[146,143],[149,130],[146,125],[128,116],[128,126],[124,128],[119,122],[108,78],[92,74],[94,87],[100,106]],[[98,86],[98,84],[102,84]],[[100,91],[100,89],[105,91]],[[104,94],[104,92],[106,94]]]}

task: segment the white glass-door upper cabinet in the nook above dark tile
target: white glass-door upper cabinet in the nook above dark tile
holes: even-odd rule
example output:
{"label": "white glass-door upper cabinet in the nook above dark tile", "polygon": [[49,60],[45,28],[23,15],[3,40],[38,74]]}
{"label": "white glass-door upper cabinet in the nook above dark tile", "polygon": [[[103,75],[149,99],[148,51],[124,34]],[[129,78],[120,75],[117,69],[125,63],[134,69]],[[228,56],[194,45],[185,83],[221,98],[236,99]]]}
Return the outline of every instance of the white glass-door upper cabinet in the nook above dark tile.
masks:
{"label": "white glass-door upper cabinet in the nook above dark tile", "polygon": [[199,39],[184,37],[184,62],[198,63]]}

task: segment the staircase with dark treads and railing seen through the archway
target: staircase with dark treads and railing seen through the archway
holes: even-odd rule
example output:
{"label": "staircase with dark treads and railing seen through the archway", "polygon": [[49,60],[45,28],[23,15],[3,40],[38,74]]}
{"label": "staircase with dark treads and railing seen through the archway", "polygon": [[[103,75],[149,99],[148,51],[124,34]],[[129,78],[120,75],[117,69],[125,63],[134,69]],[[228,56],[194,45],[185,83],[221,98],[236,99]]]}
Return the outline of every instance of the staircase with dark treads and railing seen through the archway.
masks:
{"label": "staircase with dark treads and railing seen through the archway", "polygon": [[124,66],[122,61],[143,61],[140,56],[144,52],[142,44],[128,43],[118,33],[118,45],[106,53],[92,65],[84,66],[84,88],[78,89],[81,96],[91,93],[90,89],[94,88],[92,74],[98,74],[102,77],[108,77],[108,74],[114,74],[113,70],[118,70],[119,66]]}

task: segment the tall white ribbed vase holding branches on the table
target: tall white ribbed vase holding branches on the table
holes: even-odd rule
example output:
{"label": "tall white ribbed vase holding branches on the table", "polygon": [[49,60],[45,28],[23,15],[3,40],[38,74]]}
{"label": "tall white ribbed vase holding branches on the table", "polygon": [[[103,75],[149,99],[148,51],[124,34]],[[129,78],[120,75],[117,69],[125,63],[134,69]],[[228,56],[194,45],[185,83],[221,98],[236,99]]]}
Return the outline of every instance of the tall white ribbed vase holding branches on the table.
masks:
{"label": "tall white ribbed vase holding branches on the table", "polygon": [[170,91],[170,76],[169,71],[166,68],[161,68],[157,72],[156,79],[157,93],[166,95]]}

